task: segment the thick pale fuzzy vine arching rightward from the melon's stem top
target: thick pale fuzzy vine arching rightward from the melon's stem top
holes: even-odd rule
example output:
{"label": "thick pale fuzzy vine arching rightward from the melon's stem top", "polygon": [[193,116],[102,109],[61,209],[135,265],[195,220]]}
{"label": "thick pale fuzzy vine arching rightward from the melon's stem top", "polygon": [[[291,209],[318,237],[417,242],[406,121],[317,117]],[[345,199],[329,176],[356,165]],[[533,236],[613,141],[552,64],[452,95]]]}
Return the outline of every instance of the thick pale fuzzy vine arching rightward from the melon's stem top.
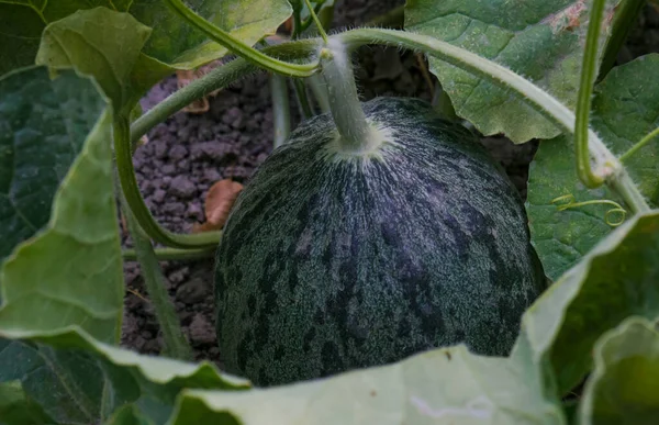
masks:
{"label": "thick pale fuzzy vine arching rightward from the melon's stem top", "polygon": [[[517,96],[526,104],[533,107],[535,111],[543,114],[557,127],[566,133],[574,134],[576,116],[558,99],[512,70],[469,51],[431,36],[395,30],[361,29],[347,31],[334,37],[345,42],[349,48],[356,48],[365,44],[386,44],[422,51],[438,57],[498,87],[510,90],[512,94]],[[331,42],[334,37],[331,37]],[[617,158],[593,131],[589,131],[588,136],[591,156],[599,166],[596,169],[604,172],[603,177],[606,177],[607,184],[614,190],[622,188],[618,193],[634,211],[647,211],[649,209],[647,202],[629,176],[623,172],[624,169]]]}

